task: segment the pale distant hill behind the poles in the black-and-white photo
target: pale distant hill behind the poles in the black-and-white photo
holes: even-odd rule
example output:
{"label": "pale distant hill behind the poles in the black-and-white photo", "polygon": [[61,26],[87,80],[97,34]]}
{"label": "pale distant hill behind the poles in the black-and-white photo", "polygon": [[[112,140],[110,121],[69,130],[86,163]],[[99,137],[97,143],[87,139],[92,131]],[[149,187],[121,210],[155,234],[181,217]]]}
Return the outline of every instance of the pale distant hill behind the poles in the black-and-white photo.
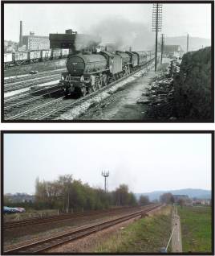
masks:
{"label": "pale distant hill behind the poles in the black-and-white photo", "polygon": [[[187,51],[187,36],[176,36],[167,37],[165,39],[165,44],[170,45],[181,45],[182,49]],[[200,38],[200,37],[189,37],[189,52],[197,51],[203,47],[211,46],[211,40]]]}

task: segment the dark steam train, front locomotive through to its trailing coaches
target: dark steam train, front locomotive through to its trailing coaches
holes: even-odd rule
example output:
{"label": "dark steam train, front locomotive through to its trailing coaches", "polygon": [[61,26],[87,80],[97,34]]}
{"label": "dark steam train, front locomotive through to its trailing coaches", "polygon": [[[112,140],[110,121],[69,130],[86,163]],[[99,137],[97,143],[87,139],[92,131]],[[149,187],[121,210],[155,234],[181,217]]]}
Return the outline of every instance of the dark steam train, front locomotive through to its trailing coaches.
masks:
{"label": "dark steam train, front locomotive through to its trailing coaches", "polygon": [[65,95],[94,92],[116,81],[155,57],[154,52],[105,52],[69,55],[67,72],[63,72],[59,86]]}

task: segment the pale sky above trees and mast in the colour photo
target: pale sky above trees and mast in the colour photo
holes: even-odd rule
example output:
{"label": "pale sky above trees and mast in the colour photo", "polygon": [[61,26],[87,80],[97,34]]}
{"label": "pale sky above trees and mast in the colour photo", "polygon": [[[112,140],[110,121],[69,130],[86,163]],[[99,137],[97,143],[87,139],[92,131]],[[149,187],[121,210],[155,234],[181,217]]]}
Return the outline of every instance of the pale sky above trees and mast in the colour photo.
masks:
{"label": "pale sky above trees and mast in the colour photo", "polygon": [[210,134],[4,134],[4,193],[71,174],[108,190],[211,189]]}

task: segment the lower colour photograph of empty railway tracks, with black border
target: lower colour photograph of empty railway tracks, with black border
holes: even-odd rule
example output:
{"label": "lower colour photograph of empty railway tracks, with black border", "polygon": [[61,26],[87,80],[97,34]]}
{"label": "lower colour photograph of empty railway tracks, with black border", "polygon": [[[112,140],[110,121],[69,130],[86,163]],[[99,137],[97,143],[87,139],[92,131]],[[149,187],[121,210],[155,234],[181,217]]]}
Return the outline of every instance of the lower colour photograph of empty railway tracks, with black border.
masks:
{"label": "lower colour photograph of empty railway tracks, with black border", "polygon": [[214,255],[213,135],[3,131],[2,254]]}

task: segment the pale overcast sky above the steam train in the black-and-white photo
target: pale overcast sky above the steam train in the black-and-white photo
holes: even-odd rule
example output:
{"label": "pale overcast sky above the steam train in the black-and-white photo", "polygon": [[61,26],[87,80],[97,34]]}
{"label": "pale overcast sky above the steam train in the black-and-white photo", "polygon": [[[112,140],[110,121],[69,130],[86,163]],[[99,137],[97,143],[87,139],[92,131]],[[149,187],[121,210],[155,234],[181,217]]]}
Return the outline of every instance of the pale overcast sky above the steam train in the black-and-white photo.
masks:
{"label": "pale overcast sky above the steam train in the black-and-white photo", "polygon": [[[189,32],[191,36],[210,39],[210,11],[210,4],[205,3],[165,3],[162,32],[168,36]],[[64,33],[68,28],[79,33],[90,32],[103,19],[106,24],[108,19],[126,19],[128,23],[142,23],[152,31],[152,4],[5,4],[5,39],[18,41],[20,20],[23,22],[23,35],[29,35],[29,31],[36,35],[49,35]]]}

